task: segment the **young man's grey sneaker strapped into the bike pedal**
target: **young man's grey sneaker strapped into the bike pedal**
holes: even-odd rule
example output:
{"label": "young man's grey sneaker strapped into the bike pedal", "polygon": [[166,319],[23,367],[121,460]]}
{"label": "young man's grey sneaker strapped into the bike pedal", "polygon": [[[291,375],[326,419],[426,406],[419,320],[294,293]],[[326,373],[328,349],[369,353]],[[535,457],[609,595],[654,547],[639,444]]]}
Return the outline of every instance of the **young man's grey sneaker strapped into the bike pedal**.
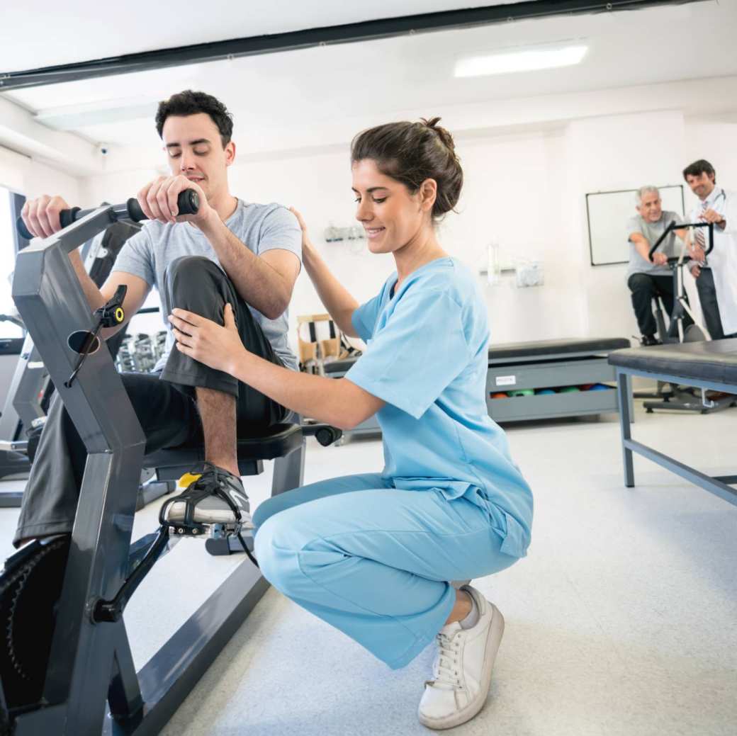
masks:
{"label": "young man's grey sneaker strapped into the bike pedal", "polygon": [[[184,524],[186,507],[192,505],[192,522],[197,524],[225,524],[234,527],[240,523],[244,529],[253,528],[251,504],[239,477],[223,468],[205,463],[202,474],[191,474],[189,478],[192,482],[185,490],[167,502],[167,508],[163,510],[167,522]],[[240,520],[236,509],[240,513]]]}

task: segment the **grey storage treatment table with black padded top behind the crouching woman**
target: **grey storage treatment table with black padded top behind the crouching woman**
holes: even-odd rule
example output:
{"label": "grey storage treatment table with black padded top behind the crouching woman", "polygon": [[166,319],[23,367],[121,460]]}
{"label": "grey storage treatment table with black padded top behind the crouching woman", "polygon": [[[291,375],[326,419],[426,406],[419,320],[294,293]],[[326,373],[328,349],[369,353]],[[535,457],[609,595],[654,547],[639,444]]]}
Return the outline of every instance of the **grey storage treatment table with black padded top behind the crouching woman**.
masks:
{"label": "grey storage treatment table with black padded top behind the crouching woman", "polygon": [[614,388],[538,393],[509,399],[492,399],[492,395],[613,382],[615,371],[608,364],[607,355],[629,345],[624,337],[604,337],[490,346],[486,374],[489,416],[495,421],[525,421],[616,412]]}

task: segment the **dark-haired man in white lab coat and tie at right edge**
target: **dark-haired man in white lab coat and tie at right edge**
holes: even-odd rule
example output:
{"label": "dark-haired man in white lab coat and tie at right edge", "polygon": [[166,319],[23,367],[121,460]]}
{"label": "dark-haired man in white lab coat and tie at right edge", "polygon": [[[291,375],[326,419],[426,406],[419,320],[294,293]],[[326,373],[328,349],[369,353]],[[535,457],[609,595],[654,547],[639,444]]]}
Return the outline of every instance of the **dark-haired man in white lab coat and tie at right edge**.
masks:
{"label": "dark-haired man in white lab coat and tie at right edge", "polygon": [[694,228],[691,273],[712,340],[737,337],[737,192],[716,186],[714,167],[704,159],[683,169],[683,178],[699,197],[689,222],[714,223],[714,249],[705,257],[707,228]]}

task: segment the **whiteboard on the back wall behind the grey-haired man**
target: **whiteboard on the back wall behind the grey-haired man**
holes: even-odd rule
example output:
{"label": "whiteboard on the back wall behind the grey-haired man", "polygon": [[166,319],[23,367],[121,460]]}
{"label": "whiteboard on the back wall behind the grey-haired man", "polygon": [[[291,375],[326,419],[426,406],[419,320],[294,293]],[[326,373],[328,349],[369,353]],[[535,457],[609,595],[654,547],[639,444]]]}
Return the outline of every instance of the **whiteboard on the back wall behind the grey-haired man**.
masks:
{"label": "whiteboard on the back wall behind the grey-haired man", "polygon": [[[684,212],[683,186],[659,186],[663,210]],[[591,192],[586,195],[586,213],[589,220],[589,248],[591,265],[629,261],[629,244],[625,228],[627,220],[635,217],[635,193],[637,189],[620,189],[617,192]]]}

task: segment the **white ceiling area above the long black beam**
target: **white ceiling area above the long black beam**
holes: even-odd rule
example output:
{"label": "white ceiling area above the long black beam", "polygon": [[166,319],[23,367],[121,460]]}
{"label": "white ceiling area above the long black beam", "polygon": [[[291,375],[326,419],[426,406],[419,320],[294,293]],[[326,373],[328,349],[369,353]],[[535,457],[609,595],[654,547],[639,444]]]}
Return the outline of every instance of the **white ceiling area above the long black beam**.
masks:
{"label": "white ceiling area above the long black beam", "polygon": [[514,1],[8,1],[0,25],[0,72]]}

